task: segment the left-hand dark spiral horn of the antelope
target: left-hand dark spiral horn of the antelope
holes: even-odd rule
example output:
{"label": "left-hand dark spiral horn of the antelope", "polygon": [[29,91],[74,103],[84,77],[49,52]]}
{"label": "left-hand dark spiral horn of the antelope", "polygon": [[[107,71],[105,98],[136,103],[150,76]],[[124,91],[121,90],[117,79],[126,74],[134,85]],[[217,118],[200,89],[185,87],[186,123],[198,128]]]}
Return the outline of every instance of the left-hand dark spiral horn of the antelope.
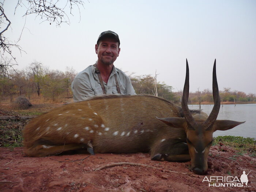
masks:
{"label": "left-hand dark spiral horn of the antelope", "polygon": [[190,110],[188,109],[188,94],[189,94],[189,68],[188,68],[188,60],[187,61],[187,71],[186,71],[186,79],[183,89],[183,95],[182,95],[182,101],[181,101],[181,108],[184,114],[184,117],[187,121],[188,128],[195,130],[196,127],[196,121],[192,117],[192,114],[190,113]]}

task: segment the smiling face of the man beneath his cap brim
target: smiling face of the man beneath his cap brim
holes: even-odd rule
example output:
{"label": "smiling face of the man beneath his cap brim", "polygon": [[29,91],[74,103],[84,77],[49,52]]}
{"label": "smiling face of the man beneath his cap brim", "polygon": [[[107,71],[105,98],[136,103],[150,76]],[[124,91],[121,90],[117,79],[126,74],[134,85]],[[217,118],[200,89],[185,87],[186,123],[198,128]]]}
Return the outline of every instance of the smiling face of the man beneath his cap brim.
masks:
{"label": "smiling face of the man beneath his cap brim", "polygon": [[98,60],[103,64],[111,65],[119,56],[120,48],[116,39],[111,37],[102,38],[99,45],[95,45],[95,52]]}

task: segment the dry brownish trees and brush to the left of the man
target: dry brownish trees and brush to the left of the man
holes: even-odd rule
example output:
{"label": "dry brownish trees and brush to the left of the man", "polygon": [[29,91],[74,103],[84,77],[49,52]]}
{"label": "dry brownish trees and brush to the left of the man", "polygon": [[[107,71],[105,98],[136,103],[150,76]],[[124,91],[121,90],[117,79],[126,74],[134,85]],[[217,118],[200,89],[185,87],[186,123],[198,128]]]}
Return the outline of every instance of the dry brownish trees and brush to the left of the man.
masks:
{"label": "dry brownish trees and brush to the left of the man", "polygon": [[67,71],[50,71],[42,63],[33,61],[29,67],[23,70],[11,71],[9,77],[0,77],[0,98],[23,95],[30,99],[31,94],[42,95],[46,99],[72,97],[71,82],[75,77],[75,71],[67,68]]}

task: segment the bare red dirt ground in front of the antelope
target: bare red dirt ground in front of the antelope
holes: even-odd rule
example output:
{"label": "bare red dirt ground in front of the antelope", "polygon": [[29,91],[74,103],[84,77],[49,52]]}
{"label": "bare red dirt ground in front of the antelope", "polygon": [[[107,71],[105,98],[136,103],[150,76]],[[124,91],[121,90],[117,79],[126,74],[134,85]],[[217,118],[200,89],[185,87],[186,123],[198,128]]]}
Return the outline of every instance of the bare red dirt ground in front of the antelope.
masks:
{"label": "bare red dirt ground in front of the antelope", "polygon": [[[210,176],[248,174],[245,187],[209,187],[199,176],[189,171],[190,162],[151,161],[149,154],[88,154],[25,157],[22,147],[0,147],[0,191],[67,191],[67,192],[226,192],[256,190],[256,158],[237,155],[227,146],[211,147],[208,157]],[[215,157],[215,156],[221,157]],[[89,156],[89,157],[88,157]],[[87,158],[86,158],[87,157]],[[224,158],[223,158],[224,157]],[[226,157],[226,158],[225,158]],[[108,167],[108,164],[124,162]],[[127,163],[127,164],[126,164]],[[130,163],[130,164],[129,164]],[[239,164],[238,164],[239,163]],[[105,166],[101,170],[98,167]],[[230,175],[229,175],[230,174]]]}

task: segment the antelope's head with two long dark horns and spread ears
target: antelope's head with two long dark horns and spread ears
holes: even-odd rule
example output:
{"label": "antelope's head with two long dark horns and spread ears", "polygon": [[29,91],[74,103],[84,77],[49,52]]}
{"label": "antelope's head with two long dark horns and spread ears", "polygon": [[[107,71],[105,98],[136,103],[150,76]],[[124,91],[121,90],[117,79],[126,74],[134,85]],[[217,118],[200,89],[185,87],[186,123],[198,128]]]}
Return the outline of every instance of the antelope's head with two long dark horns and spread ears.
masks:
{"label": "antelope's head with two long dark horns and spread ears", "polygon": [[214,107],[210,115],[207,116],[205,113],[201,112],[200,114],[192,116],[188,109],[189,68],[187,61],[186,79],[181,102],[184,118],[167,117],[160,119],[171,127],[184,128],[187,134],[187,144],[191,157],[191,169],[196,174],[207,173],[207,158],[213,142],[213,132],[216,130],[228,130],[244,123],[230,120],[216,120],[220,108],[219,90],[216,78],[216,59],[213,67],[212,92]]}

